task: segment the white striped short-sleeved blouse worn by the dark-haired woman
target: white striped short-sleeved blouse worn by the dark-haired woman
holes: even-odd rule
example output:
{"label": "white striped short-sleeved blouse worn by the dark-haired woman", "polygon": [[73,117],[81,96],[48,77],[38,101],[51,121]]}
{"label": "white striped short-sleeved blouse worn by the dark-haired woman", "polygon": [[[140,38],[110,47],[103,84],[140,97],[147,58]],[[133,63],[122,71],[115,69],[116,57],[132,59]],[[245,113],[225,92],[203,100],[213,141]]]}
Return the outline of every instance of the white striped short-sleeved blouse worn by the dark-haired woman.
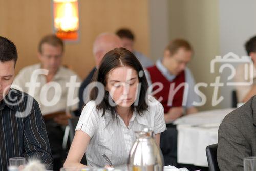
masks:
{"label": "white striped short-sleeved blouse worn by the dark-haired woman", "polygon": [[86,150],[87,164],[90,167],[104,167],[104,153],[109,157],[113,166],[126,166],[133,142],[136,140],[135,131],[151,127],[155,134],[166,130],[163,106],[154,97],[148,96],[148,111],[140,116],[133,113],[129,126],[124,124],[117,115],[118,121],[112,121],[109,110],[102,116],[102,110],[97,110],[95,101],[90,101],[83,108],[76,130],[82,130],[90,137]]}

